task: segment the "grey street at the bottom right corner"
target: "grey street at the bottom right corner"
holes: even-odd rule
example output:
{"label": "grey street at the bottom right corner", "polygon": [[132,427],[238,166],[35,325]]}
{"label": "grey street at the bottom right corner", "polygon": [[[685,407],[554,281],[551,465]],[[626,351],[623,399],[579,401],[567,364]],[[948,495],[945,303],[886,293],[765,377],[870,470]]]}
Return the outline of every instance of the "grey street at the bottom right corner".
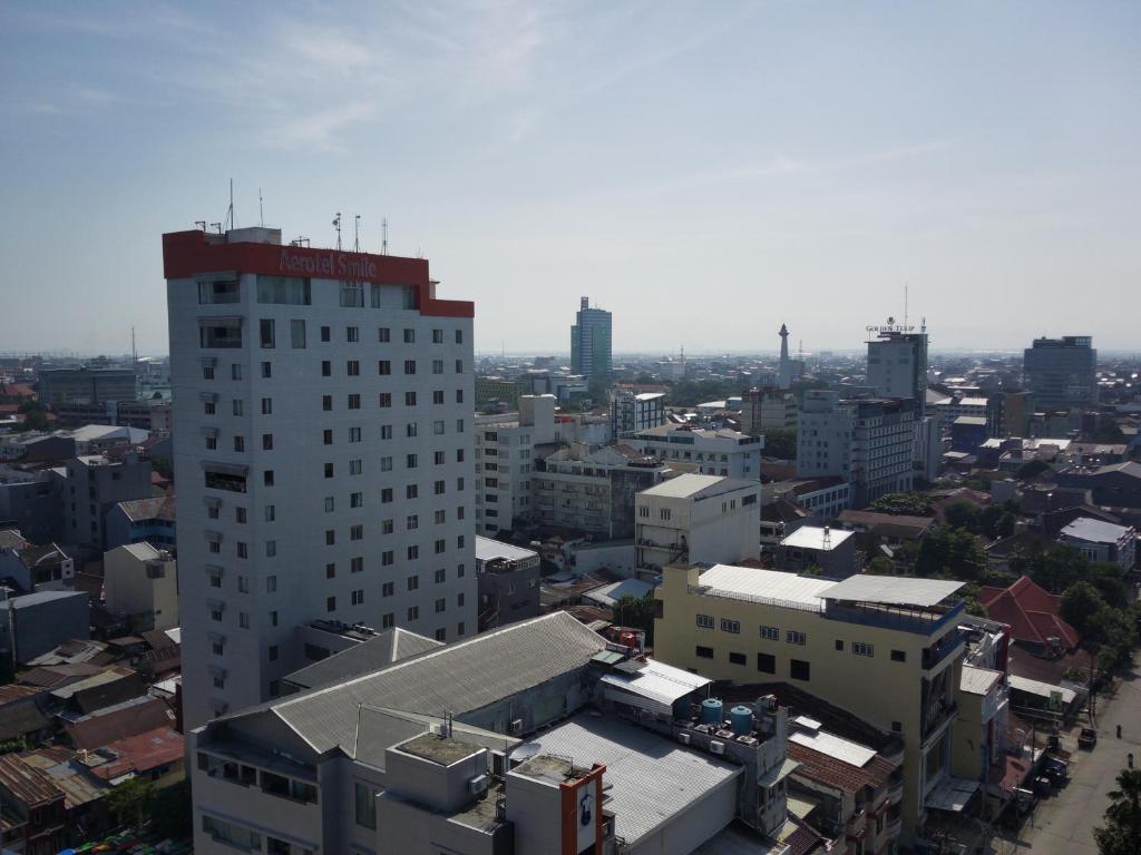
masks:
{"label": "grey street at the bottom right corner", "polygon": [[[1117,725],[1122,739],[1117,739]],[[1101,824],[1117,774],[1133,752],[1141,766],[1141,663],[1118,684],[1115,697],[1098,699],[1098,744],[1078,751],[1070,764],[1070,782],[1057,796],[1038,803],[1034,826],[1022,826],[1019,853],[1034,855],[1097,855],[1093,829]],[[1025,848],[1029,844],[1029,848]]]}

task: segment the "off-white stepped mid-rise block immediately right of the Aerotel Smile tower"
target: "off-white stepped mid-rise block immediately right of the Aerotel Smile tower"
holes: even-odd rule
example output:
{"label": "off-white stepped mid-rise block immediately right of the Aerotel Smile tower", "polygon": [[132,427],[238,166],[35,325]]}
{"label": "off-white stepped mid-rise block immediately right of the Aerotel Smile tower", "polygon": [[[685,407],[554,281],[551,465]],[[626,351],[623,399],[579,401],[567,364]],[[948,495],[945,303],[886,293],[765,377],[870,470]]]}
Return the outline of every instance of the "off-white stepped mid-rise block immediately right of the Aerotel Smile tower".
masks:
{"label": "off-white stepped mid-rise block immediately right of the Aerotel Smile tower", "polygon": [[510,531],[532,516],[537,461],[555,450],[552,394],[525,394],[519,412],[476,416],[476,531]]}

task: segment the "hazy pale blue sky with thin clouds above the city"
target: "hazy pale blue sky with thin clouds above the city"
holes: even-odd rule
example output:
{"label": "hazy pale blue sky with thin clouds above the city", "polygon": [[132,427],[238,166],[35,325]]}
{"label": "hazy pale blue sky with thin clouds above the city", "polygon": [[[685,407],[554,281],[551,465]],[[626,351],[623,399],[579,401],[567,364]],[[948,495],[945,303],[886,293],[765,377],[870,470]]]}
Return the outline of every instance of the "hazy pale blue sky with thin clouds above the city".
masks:
{"label": "hazy pale blue sky with thin clouds above the city", "polygon": [[0,351],[162,352],[160,235],[422,252],[476,347],[1141,349],[1141,3],[0,5]]}

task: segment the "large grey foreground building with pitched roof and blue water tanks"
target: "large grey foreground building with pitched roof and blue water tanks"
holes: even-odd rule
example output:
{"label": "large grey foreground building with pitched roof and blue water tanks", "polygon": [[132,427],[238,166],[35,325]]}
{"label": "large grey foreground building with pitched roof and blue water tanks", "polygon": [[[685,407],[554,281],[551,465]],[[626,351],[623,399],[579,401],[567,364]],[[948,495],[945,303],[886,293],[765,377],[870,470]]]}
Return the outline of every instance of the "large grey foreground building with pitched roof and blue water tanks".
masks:
{"label": "large grey foreground building with pitched roof and blue water tanks", "polygon": [[555,613],[211,722],[187,736],[194,850],[779,852],[786,712],[631,653]]}

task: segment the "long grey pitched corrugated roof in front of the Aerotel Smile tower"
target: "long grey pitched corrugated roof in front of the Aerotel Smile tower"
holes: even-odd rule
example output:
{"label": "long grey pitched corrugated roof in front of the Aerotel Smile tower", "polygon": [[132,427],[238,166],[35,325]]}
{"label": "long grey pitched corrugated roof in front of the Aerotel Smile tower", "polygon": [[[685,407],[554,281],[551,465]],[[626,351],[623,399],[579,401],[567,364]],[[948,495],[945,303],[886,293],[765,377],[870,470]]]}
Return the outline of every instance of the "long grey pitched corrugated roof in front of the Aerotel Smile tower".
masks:
{"label": "long grey pitched corrugated roof in front of the Aerotel Smile tower", "polygon": [[602,636],[555,612],[229,718],[269,711],[317,751],[351,751],[361,705],[462,715],[581,668],[605,648]]}

